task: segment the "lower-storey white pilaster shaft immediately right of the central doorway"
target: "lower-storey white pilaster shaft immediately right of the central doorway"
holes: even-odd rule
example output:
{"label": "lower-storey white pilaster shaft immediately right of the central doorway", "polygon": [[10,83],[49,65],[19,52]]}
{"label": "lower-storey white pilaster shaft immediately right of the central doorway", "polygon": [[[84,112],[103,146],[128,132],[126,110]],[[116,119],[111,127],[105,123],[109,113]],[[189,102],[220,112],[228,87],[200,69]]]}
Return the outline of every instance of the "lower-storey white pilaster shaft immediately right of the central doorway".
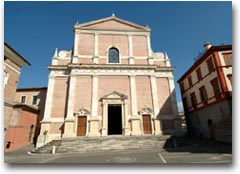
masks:
{"label": "lower-storey white pilaster shaft immediately right of the central doorway", "polygon": [[137,116],[137,95],[135,75],[130,75],[131,111],[132,116]]}

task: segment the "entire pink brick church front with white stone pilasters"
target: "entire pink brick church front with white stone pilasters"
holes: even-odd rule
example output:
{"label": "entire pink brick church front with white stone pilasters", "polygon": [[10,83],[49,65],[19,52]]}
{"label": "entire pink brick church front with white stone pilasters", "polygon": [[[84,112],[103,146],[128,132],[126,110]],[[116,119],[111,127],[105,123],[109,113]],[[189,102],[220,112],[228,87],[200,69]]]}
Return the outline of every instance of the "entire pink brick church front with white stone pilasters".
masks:
{"label": "entire pink brick church front with white stone pilasters", "polygon": [[173,70],[150,28],[115,15],[74,25],[74,46],[52,58],[37,147],[77,136],[176,135]]}

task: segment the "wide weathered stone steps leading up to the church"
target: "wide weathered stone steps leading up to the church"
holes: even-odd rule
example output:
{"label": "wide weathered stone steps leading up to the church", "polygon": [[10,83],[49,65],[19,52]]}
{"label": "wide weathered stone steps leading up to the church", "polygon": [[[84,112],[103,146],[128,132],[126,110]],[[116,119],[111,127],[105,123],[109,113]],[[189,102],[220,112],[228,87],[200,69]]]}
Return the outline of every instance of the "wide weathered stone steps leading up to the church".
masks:
{"label": "wide weathered stone steps leading up to the church", "polygon": [[[174,147],[174,141],[181,146],[189,143],[181,139],[173,140],[170,136],[109,136],[109,137],[76,137],[53,140],[45,146],[32,150],[32,153],[52,153],[53,146],[56,153],[75,153],[89,151],[125,150],[125,149],[148,149],[162,148],[166,145]],[[176,142],[175,142],[176,143]]]}

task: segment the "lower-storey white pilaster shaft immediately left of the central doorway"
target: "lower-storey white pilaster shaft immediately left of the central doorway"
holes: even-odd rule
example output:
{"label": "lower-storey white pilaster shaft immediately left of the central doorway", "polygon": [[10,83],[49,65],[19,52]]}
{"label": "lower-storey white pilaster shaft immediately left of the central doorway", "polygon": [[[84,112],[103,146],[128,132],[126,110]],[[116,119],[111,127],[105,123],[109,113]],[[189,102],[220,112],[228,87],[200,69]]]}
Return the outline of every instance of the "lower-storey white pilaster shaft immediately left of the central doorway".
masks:
{"label": "lower-storey white pilaster shaft immediately left of the central doorway", "polygon": [[98,109],[98,76],[92,76],[92,104],[91,104],[91,116],[97,116]]}

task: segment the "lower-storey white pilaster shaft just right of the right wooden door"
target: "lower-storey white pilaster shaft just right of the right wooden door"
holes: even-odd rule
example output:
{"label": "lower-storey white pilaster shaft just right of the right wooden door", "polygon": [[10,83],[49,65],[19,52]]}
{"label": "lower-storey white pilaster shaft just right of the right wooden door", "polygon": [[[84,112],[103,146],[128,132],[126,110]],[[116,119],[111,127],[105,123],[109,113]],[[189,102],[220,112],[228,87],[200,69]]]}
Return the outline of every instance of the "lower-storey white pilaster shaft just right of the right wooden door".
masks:
{"label": "lower-storey white pilaster shaft just right of the right wooden door", "polygon": [[152,92],[152,102],[153,102],[153,114],[154,114],[154,117],[157,117],[159,113],[159,102],[158,102],[156,76],[151,75],[150,82],[151,82],[151,92]]}

